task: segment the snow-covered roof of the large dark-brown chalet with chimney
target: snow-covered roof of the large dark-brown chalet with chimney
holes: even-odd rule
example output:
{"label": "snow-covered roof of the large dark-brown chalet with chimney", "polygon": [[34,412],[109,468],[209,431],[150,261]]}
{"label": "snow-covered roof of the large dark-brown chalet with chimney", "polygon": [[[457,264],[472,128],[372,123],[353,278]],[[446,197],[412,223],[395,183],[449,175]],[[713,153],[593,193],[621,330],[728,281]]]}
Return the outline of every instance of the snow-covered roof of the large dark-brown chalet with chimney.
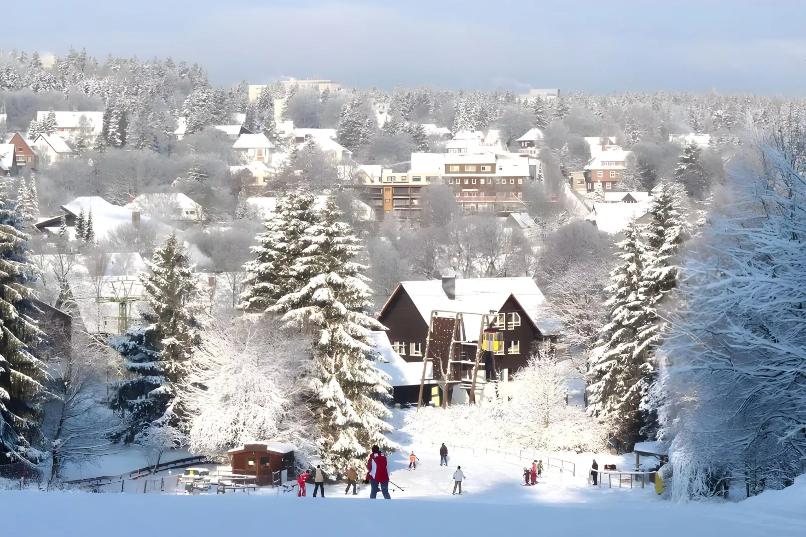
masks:
{"label": "snow-covered roof of the large dark-brown chalet with chimney", "polygon": [[465,332],[470,338],[478,334],[481,316],[491,310],[500,310],[510,295],[515,297],[534,326],[544,335],[557,335],[563,328],[538,285],[530,277],[456,278],[453,299],[445,294],[441,280],[401,281],[400,287],[409,295],[426,323],[429,322],[431,310],[465,313]]}

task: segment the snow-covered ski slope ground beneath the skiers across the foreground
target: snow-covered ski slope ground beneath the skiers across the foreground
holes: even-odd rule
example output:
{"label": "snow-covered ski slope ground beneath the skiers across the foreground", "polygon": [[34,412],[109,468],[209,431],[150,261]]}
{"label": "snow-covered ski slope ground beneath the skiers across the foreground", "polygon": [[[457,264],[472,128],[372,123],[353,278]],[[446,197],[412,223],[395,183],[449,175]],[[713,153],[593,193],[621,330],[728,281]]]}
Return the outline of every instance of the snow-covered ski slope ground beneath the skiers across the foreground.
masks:
{"label": "snow-covered ski slope ground beneath the skiers across the foreground", "polygon": [[[401,422],[402,414],[396,412],[396,423]],[[311,497],[312,488],[304,498],[279,489],[186,496],[174,493],[177,471],[173,471],[172,475],[160,474],[165,478],[164,494],[135,494],[134,487],[127,487],[127,494],[0,491],[2,535],[125,537],[303,531],[306,535],[410,537],[435,530],[448,535],[806,535],[806,476],[788,489],[745,502],[672,504],[661,500],[651,487],[630,490],[588,485],[583,468],[590,463],[590,454],[565,457],[578,464],[576,476],[547,468],[538,485],[521,486],[522,470],[531,457],[526,452],[521,460],[520,452],[501,456],[485,453],[484,448],[475,452],[451,448],[450,464],[440,467],[438,445],[430,441],[419,444],[399,430],[394,439],[404,449],[389,457],[393,502],[379,499],[368,504],[369,487],[365,485],[359,486],[357,496],[346,496],[344,485],[328,485],[324,500]],[[414,471],[406,469],[411,451],[420,459]],[[600,468],[610,463],[625,468],[632,459],[600,454],[596,460]],[[117,469],[125,463],[110,464]],[[462,496],[451,494],[451,476],[457,465],[467,477]],[[102,469],[109,470],[106,473],[112,470]],[[121,471],[124,469],[131,468]]]}

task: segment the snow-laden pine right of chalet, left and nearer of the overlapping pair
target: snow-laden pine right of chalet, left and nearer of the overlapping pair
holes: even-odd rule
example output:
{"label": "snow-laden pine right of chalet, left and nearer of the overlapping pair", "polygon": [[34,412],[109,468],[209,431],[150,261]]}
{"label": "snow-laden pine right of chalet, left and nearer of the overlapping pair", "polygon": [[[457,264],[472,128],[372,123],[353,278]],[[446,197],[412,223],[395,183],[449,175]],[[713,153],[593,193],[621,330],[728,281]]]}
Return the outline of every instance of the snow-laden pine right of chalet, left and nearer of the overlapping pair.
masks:
{"label": "snow-laden pine right of chalet, left and nearer of the overlapping pair", "polygon": [[612,418],[626,443],[634,443],[642,427],[641,402],[654,380],[650,346],[659,343],[657,316],[650,306],[644,261],[646,247],[636,220],[618,244],[622,261],[605,289],[610,322],[602,328],[588,369],[588,412]]}

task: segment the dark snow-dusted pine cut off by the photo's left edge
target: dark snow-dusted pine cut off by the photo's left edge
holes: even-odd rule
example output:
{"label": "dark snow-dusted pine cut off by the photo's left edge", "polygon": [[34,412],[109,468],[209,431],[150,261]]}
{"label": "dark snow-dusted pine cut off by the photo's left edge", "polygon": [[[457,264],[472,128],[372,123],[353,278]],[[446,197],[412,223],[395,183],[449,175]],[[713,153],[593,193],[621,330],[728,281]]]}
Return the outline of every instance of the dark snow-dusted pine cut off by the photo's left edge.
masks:
{"label": "dark snow-dusted pine cut off by the photo's left edge", "polygon": [[20,231],[15,204],[0,185],[0,464],[38,462],[39,414],[45,365],[35,350],[44,334],[29,314],[33,291],[25,286],[35,269],[27,258],[28,236]]}

